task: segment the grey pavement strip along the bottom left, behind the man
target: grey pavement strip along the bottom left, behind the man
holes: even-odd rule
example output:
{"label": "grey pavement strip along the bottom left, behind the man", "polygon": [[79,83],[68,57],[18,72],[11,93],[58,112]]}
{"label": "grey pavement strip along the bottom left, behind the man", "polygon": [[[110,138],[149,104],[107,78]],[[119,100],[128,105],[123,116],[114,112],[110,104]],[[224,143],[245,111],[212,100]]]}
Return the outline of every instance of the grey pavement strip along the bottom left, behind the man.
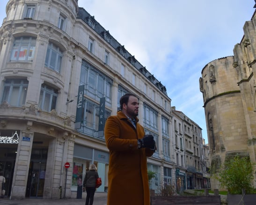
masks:
{"label": "grey pavement strip along the bottom left, behind the man", "polygon": [[[63,199],[44,199],[44,198],[25,198],[9,199],[0,198],[0,205],[85,205],[86,194],[83,198],[63,198]],[[107,205],[107,193],[95,193],[93,205]]]}

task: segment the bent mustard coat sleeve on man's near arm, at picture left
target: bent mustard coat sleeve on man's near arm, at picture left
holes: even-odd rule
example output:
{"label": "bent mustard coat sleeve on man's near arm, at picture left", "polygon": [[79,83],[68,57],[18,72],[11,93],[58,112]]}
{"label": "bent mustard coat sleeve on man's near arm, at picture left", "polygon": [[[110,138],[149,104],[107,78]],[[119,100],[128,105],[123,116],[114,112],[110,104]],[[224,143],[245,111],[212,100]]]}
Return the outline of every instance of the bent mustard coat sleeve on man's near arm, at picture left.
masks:
{"label": "bent mustard coat sleeve on man's near arm, at picture left", "polygon": [[136,137],[133,137],[133,139],[120,138],[120,123],[113,116],[110,116],[106,121],[104,133],[109,150],[127,151],[138,149],[138,140]]}

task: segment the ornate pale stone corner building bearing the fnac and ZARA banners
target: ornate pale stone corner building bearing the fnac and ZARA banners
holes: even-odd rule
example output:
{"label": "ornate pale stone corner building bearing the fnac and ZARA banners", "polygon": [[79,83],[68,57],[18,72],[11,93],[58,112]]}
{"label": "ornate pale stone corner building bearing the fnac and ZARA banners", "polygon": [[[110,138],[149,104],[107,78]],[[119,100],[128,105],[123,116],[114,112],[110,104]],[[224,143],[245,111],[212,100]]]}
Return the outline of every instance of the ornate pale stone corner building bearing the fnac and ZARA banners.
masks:
{"label": "ornate pale stone corner building bearing the fnac and ZARA banners", "polygon": [[102,178],[97,191],[108,191],[102,130],[127,92],[139,97],[139,122],[158,147],[148,158],[148,170],[157,173],[151,188],[175,184],[165,86],[77,0],[9,0],[6,11],[0,27],[0,170],[6,196],[80,198],[92,163]]}

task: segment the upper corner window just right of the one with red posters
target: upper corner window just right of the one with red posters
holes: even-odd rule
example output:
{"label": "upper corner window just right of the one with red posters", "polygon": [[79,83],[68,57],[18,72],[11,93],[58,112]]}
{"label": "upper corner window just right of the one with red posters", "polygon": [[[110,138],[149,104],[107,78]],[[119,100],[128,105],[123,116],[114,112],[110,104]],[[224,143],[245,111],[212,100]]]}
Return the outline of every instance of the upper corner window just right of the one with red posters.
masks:
{"label": "upper corner window just right of the one with red posters", "polygon": [[59,47],[53,43],[49,43],[44,65],[57,72],[60,72],[62,56],[63,54]]}

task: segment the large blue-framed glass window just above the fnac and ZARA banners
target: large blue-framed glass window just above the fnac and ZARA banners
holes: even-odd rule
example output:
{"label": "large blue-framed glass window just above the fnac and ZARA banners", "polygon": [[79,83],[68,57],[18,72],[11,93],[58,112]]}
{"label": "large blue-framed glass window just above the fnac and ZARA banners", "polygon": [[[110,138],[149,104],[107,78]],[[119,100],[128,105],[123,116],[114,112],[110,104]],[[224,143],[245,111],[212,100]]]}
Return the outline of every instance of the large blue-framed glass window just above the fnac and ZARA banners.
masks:
{"label": "large blue-framed glass window just above the fnac and ZARA banners", "polygon": [[85,61],[82,61],[80,85],[85,85],[85,95],[98,102],[105,97],[106,106],[111,107],[112,80]]}

